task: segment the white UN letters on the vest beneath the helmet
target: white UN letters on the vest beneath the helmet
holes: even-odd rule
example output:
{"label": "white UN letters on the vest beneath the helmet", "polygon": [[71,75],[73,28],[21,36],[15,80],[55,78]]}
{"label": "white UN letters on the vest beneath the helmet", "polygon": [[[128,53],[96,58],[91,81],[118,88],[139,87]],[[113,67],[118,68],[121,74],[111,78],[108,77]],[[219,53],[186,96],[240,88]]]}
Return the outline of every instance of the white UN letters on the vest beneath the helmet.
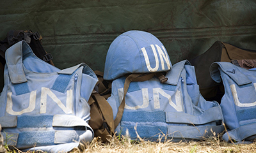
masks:
{"label": "white UN letters on the vest beneath the helmet", "polygon": [[[167,94],[166,92],[163,91],[163,89],[161,88],[153,88],[153,99],[154,99],[154,108],[155,109],[160,109],[160,99],[159,99],[159,94],[161,94],[162,96],[164,96],[165,98],[168,99],[169,104],[175,109],[177,110],[177,112],[182,112],[182,99],[181,99],[181,94],[180,91],[177,90],[175,92],[175,101],[176,104],[173,103],[172,101],[172,97]],[[137,105],[137,106],[128,106],[125,103],[125,109],[128,110],[138,110],[139,108],[147,108],[149,105],[149,99],[148,99],[148,89],[147,88],[143,88],[141,89],[142,91],[142,98],[143,98],[143,104],[142,105]],[[120,88],[118,89],[118,98],[119,101],[121,103],[122,99],[124,98],[124,88]]]}

